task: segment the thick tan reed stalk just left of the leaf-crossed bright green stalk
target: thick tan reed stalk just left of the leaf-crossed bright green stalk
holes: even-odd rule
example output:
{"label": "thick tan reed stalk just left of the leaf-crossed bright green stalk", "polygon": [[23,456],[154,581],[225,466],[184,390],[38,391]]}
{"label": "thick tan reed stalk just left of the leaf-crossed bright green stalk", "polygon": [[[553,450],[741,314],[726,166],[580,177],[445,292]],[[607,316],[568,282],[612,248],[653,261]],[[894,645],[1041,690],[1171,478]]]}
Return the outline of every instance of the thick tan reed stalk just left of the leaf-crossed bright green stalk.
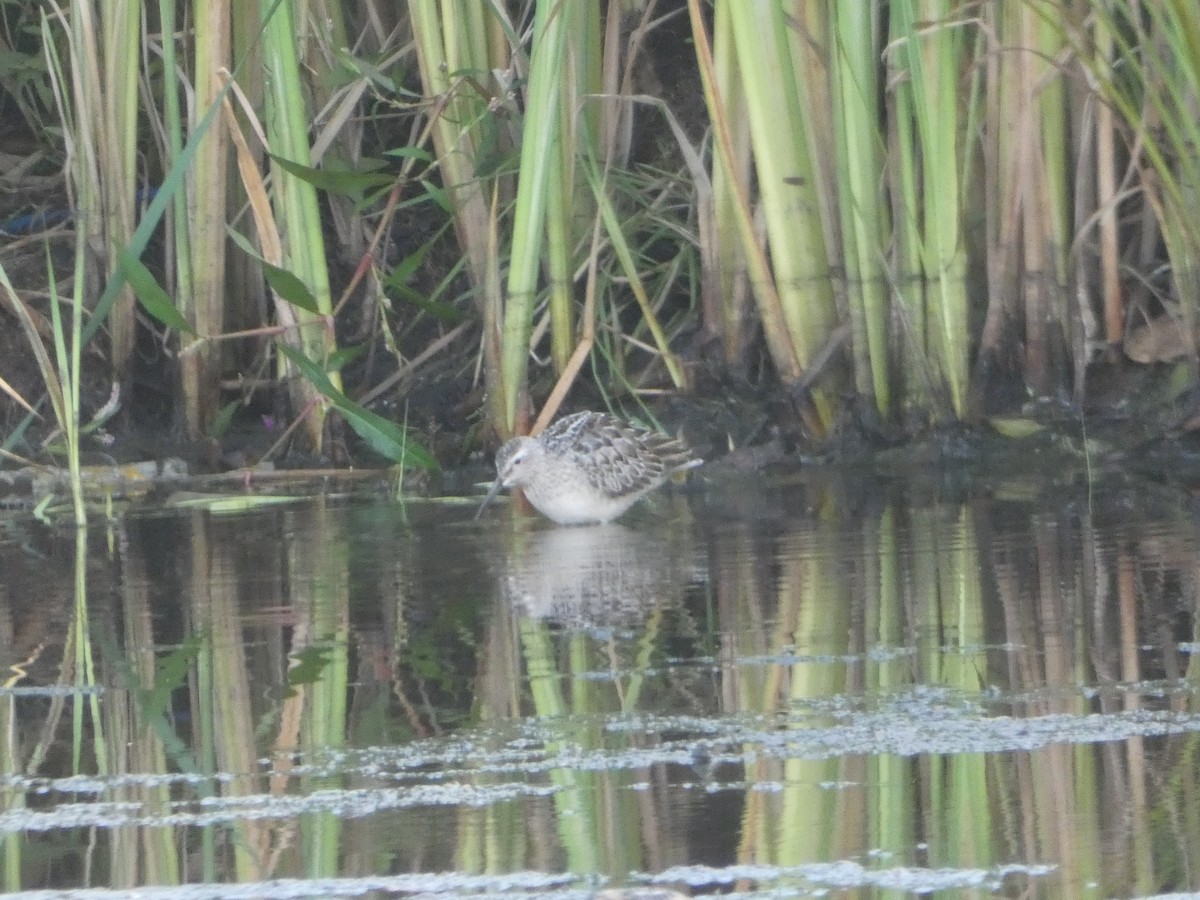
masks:
{"label": "thick tan reed stalk just left of the leaf-crossed bright green stalk", "polygon": [[[164,0],[169,5],[170,0]],[[230,68],[230,0],[194,5],[192,28],[196,35],[192,90],[196,115],[212,108],[223,89],[221,70]],[[168,71],[168,125],[178,106],[174,72]],[[193,124],[194,128],[196,125]],[[180,134],[172,133],[172,163],[179,158]],[[196,149],[187,170],[187,196],[176,193],[172,214],[175,222],[175,257],[179,260],[180,312],[196,330],[199,346],[180,359],[180,386],[184,418],[193,438],[208,433],[220,406],[221,347],[209,338],[226,329],[226,218],[229,202],[229,133],[209,128]],[[187,208],[191,208],[188,214]],[[187,346],[185,344],[185,349]]]}

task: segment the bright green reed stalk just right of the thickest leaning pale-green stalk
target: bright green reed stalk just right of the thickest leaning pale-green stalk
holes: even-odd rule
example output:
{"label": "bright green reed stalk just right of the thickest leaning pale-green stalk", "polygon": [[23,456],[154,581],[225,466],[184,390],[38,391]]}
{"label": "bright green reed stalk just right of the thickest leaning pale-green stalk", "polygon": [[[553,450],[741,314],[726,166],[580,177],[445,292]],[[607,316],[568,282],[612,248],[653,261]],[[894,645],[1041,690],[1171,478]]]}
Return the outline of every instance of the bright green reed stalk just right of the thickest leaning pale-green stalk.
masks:
{"label": "bright green reed stalk just right of the thickest leaning pale-green stalk", "polygon": [[881,12],[876,0],[832,7],[829,68],[854,384],[859,396],[874,401],[876,412],[887,416],[892,389],[883,254],[890,223],[880,178],[883,154],[878,137],[881,90],[876,50]]}

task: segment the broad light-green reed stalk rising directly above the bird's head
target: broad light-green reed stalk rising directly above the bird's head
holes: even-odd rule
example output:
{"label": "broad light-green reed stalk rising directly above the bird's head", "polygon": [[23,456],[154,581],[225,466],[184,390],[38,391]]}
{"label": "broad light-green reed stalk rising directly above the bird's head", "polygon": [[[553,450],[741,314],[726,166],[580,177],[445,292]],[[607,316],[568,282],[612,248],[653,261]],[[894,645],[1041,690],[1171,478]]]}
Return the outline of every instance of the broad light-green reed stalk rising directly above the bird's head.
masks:
{"label": "broad light-green reed stalk rising directly above the bird's head", "polygon": [[558,162],[559,118],[563,115],[559,79],[565,65],[568,24],[563,4],[538,4],[529,60],[521,143],[521,180],[517,185],[509,252],[509,280],[500,338],[500,384],[504,420],[502,432],[517,427],[527,414],[527,366],[533,313],[538,296],[546,210],[551,202],[551,167]]}

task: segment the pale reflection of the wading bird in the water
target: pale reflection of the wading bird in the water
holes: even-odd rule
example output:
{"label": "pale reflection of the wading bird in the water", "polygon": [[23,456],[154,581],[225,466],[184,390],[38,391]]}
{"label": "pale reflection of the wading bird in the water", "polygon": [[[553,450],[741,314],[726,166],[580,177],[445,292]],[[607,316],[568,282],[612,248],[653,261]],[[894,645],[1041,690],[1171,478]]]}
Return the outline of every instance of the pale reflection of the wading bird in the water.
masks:
{"label": "pale reflection of the wading bird in the water", "polygon": [[497,564],[516,607],[570,628],[632,625],[678,599],[689,570],[676,530],[619,524],[510,532]]}

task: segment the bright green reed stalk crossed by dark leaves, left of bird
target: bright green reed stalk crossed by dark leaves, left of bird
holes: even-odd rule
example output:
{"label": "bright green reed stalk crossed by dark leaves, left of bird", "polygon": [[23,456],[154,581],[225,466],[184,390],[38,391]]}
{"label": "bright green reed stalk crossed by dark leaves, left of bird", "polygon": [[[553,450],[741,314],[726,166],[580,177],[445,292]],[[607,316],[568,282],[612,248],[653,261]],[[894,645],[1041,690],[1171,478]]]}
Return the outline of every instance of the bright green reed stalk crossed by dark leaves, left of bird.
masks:
{"label": "bright green reed stalk crossed by dark leaves, left of bird", "polygon": [[[266,134],[271,151],[290,162],[311,166],[306,103],[300,85],[300,65],[295,44],[295,18],[290,4],[272,5],[262,0],[264,20],[263,60],[266,70]],[[271,12],[274,10],[274,12]],[[328,317],[332,313],[329,269],[325,262],[325,239],[322,233],[320,211],[316,188],[281,166],[271,166],[275,185],[276,221],[286,235],[284,264],[308,288],[320,316],[295,310],[299,334],[286,337],[295,342],[304,355],[324,365],[335,349]],[[323,323],[324,319],[324,323]],[[342,390],[341,374],[328,373],[335,389]],[[324,396],[305,378],[292,379],[293,404],[298,410],[310,409],[306,418],[308,445],[319,450],[323,442],[328,403]]]}

